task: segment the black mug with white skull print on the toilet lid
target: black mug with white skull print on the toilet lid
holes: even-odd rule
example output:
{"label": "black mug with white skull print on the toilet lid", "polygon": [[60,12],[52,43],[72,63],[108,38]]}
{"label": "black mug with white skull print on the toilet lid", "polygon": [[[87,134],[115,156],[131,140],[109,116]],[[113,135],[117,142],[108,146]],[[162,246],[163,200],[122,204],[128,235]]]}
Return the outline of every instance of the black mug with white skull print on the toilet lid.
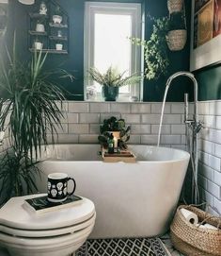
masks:
{"label": "black mug with white skull print on the toilet lid", "polygon": [[[73,182],[71,192],[68,192],[68,182]],[[48,175],[48,200],[50,202],[63,202],[71,196],[76,189],[76,182],[66,173],[52,173]]]}

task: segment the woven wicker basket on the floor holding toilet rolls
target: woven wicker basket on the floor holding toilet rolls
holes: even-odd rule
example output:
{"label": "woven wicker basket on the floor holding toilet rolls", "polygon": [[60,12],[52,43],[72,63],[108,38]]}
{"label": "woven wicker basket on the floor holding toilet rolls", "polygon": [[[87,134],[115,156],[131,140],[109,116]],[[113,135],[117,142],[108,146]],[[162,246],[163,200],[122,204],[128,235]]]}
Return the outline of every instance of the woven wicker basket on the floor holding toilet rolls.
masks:
{"label": "woven wicker basket on the floor holding toilet rolls", "polygon": [[[198,228],[188,222],[180,209],[185,208],[198,216],[199,223],[207,222],[219,230]],[[212,216],[196,207],[181,205],[170,226],[171,240],[178,250],[184,255],[220,256],[221,255],[221,217]]]}

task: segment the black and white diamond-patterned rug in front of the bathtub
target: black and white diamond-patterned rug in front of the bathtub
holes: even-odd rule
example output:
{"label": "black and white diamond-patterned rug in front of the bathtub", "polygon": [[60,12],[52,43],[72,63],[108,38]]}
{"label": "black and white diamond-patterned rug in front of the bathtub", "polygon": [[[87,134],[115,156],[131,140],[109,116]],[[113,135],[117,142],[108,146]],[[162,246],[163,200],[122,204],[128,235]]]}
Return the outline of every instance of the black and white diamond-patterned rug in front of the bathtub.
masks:
{"label": "black and white diamond-patterned rug in front of the bathtub", "polygon": [[89,239],[76,256],[169,256],[159,238]]}

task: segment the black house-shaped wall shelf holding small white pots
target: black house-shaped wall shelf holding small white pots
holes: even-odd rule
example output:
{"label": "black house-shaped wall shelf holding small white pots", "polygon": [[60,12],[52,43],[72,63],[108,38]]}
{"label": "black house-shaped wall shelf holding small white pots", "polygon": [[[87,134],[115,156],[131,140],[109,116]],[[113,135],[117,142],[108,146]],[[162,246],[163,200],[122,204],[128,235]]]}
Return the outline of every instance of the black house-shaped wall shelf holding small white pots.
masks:
{"label": "black house-shaped wall shelf holding small white pots", "polygon": [[[40,6],[43,3],[37,0],[33,5],[32,12],[28,13],[28,48],[34,52],[35,42],[42,43],[42,53],[68,54],[69,52],[69,16],[55,1],[48,0],[46,13],[40,13]],[[57,14],[57,9],[59,13]],[[55,20],[55,16],[62,18],[61,22]],[[39,25],[39,29],[37,27]],[[56,45],[59,44],[59,45]],[[58,49],[59,47],[59,50]],[[62,49],[60,49],[62,47]],[[37,50],[39,51],[39,49]]]}

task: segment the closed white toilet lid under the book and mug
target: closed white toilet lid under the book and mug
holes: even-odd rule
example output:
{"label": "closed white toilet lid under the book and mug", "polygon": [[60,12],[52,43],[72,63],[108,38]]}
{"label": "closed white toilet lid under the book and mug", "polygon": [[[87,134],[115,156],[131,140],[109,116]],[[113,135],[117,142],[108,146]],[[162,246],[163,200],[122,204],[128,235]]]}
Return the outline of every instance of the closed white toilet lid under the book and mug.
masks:
{"label": "closed white toilet lid under the book and mug", "polygon": [[0,225],[22,230],[60,229],[87,221],[94,213],[92,201],[86,197],[69,208],[59,209],[49,213],[30,213],[23,207],[24,199],[45,194],[12,197],[0,209]]}

